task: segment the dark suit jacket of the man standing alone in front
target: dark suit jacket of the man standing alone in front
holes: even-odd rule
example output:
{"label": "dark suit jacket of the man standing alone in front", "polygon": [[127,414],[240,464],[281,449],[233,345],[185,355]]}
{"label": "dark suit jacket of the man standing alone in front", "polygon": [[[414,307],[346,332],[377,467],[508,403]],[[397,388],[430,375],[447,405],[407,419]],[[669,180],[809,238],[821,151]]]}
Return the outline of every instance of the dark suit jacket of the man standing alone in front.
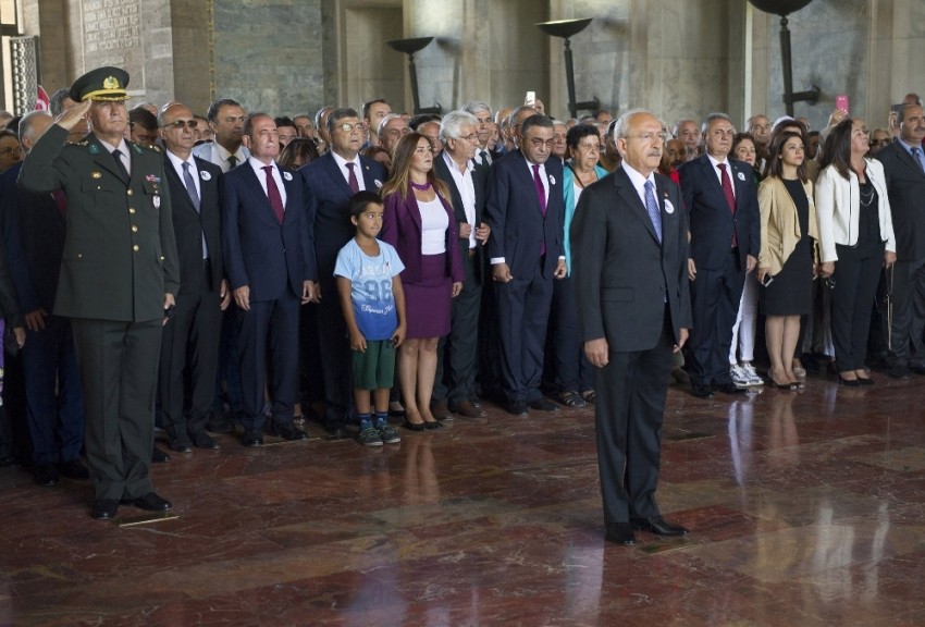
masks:
{"label": "dark suit jacket of the man standing alone in front", "polygon": [[680,328],[692,327],[681,194],[658,173],[655,186],[661,246],[622,168],[581,193],[569,235],[583,341],[605,337],[609,349],[618,352],[653,348],[662,335],[666,296],[675,341]]}

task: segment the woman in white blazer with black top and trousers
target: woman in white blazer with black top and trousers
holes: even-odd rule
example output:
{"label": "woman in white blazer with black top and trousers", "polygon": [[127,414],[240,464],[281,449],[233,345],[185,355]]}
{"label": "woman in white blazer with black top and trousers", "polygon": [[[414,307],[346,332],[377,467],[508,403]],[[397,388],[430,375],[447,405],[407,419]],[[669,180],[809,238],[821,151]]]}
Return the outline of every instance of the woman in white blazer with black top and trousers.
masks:
{"label": "woman in white blazer with black top and trousers", "polygon": [[866,159],[861,120],[843,120],[825,144],[816,182],[819,274],[831,286],[831,335],[839,381],[873,385],[864,360],[880,268],[896,261],[884,167]]}

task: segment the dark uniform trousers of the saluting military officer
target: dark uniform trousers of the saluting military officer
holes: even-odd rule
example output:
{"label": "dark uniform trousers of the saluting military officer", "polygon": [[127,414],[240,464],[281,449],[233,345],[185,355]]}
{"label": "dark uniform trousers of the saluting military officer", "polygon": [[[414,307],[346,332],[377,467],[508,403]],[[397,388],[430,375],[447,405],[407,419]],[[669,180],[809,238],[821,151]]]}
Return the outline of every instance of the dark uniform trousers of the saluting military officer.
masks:
{"label": "dark uniform trousers of the saluting military officer", "polygon": [[137,499],[148,471],[162,321],[73,318],[84,389],[87,464],[95,499]]}

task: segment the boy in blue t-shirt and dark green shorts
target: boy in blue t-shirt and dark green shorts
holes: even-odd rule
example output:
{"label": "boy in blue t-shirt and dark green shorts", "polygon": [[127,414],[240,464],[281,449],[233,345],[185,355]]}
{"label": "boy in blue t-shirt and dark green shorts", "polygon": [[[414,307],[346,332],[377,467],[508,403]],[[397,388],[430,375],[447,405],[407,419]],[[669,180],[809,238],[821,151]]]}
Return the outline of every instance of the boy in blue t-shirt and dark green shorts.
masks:
{"label": "boy in blue t-shirt and dark green shorts", "polygon": [[360,442],[367,446],[402,440],[388,425],[388,391],[395,379],[395,348],[405,339],[405,292],[398,276],[405,266],[395,248],[375,238],[382,230],[382,214],[378,194],[354,195],[350,222],[357,235],[341,248],[334,267],[354,352],[354,403],[360,419]]}

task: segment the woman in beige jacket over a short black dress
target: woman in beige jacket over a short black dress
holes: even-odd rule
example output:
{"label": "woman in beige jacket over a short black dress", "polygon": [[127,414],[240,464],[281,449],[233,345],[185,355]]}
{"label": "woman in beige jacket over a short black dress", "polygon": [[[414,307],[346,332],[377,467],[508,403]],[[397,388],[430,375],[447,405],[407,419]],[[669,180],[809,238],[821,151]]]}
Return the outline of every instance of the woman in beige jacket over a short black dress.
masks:
{"label": "woman in beige jacket over a short black dress", "polygon": [[813,300],[816,211],[813,184],[803,165],[805,153],[800,133],[784,131],[775,135],[768,148],[765,180],[758,186],[757,279],[763,286],[768,376],[781,390],[802,386],[793,373],[793,353],[800,337],[800,316],[810,312]]}

